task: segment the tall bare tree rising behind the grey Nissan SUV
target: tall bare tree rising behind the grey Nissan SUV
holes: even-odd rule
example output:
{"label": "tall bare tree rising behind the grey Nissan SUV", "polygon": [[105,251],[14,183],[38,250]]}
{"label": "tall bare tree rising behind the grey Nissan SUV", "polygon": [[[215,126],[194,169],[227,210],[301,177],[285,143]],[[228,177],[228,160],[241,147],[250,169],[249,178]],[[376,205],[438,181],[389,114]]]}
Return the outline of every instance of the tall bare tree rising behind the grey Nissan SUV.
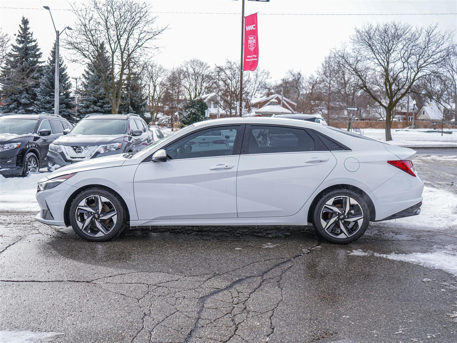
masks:
{"label": "tall bare tree rising behind the grey Nissan SUV", "polygon": [[150,16],[149,10],[147,3],[135,0],[90,0],[73,5],[77,23],[66,44],[75,52],[73,61],[83,63],[96,61],[100,47],[105,46],[111,62],[109,75],[96,69],[112,113],[119,111],[129,70],[138,70],[132,66],[141,53],[157,49],[154,41],[166,29],[156,26],[157,17]]}

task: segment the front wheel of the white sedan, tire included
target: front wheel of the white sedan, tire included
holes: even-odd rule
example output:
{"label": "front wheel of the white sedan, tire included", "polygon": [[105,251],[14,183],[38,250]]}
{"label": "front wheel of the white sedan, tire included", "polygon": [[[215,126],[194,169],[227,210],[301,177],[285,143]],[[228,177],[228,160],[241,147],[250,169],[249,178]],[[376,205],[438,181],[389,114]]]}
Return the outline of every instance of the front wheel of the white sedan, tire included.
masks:
{"label": "front wheel of the white sedan, tire included", "polygon": [[90,188],[74,198],[69,217],[78,236],[86,241],[104,242],[124,230],[126,214],[116,195],[105,189]]}

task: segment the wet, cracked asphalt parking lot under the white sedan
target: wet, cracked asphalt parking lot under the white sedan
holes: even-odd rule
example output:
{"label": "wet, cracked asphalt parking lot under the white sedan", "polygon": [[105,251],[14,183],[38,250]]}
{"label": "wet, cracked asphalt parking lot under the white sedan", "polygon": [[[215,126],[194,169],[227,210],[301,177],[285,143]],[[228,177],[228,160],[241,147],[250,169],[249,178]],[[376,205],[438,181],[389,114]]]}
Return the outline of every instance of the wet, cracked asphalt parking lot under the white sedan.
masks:
{"label": "wet, cracked asphalt parking lot under the white sedan", "polygon": [[[455,159],[414,164],[455,200]],[[0,341],[455,342],[457,228],[439,225],[455,215],[437,211],[430,230],[373,223],[335,245],[306,226],[133,228],[90,243],[2,212]]]}

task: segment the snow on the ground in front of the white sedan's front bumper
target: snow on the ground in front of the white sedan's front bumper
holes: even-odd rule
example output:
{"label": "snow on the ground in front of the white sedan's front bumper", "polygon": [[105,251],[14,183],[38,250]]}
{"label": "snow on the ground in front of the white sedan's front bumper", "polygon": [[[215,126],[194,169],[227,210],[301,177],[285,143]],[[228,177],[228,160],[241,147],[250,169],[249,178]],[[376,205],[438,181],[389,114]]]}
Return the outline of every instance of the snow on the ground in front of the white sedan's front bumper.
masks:
{"label": "snow on the ground in front of the white sedan's front bumper", "polygon": [[35,194],[37,182],[48,173],[32,173],[27,177],[0,175],[0,211],[39,211]]}

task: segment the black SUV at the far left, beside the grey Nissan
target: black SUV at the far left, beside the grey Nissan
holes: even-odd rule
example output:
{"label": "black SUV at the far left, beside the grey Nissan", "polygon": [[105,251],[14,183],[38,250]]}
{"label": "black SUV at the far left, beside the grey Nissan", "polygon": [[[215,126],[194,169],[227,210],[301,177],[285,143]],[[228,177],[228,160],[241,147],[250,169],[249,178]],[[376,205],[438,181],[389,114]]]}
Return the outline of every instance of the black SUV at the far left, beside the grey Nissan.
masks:
{"label": "black SUV at the far left, beside the grey Nissan", "polygon": [[0,114],[0,174],[26,176],[48,166],[48,147],[71,124],[55,114]]}

